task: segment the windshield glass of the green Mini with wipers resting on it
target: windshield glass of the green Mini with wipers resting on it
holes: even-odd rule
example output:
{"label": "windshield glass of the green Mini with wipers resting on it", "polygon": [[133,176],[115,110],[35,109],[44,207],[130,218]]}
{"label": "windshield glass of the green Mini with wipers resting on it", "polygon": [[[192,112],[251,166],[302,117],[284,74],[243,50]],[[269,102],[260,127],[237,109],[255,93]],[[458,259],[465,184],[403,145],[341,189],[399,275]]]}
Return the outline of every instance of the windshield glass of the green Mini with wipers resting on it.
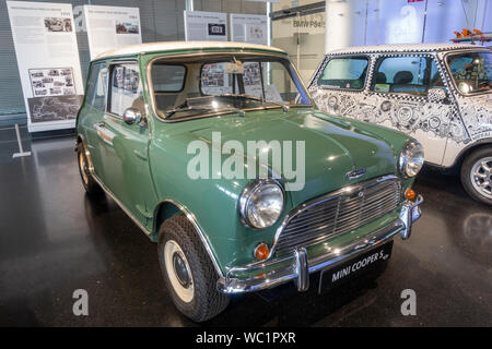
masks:
{"label": "windshield glass of the green Mini with wipers resting on it", "polygon": [[167,120],[312,105],[291,62],[276,56],[162,58],[151,79],[155,111]]}

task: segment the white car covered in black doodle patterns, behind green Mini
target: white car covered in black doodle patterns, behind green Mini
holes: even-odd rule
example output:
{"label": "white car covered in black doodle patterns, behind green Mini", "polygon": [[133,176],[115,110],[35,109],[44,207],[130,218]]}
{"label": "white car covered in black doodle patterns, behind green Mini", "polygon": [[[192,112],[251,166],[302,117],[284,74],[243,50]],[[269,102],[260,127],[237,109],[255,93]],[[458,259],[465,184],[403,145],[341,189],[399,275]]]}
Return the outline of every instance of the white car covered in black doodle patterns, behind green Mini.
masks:
{"label": "white car covered in black doodle patterns, behind green Mini", "polygon": [[386,45],[328,53],[309,84],[330,115],[390,127],[423,144],[425,161],[461,172],[492,204],[492,52],[465,45]]}

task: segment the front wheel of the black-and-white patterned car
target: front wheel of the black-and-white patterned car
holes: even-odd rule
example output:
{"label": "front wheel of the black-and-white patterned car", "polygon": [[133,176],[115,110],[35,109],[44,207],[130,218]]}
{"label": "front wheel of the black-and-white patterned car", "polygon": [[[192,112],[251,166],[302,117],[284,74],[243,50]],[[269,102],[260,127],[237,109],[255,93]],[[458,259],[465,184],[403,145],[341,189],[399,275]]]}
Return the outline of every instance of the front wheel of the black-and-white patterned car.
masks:
{"label": "front wheel of the black-and-white patterned car", "polygon": [[476,201],[492,205],[492,147],[468,155],[461,166],[461,183]]}

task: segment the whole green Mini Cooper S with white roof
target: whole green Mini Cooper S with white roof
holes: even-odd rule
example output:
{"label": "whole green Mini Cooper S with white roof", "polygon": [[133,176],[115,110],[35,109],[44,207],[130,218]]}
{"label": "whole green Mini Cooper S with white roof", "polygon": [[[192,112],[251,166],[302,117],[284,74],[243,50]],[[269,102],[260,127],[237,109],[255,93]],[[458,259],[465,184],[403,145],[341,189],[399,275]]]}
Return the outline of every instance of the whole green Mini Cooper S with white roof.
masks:
{"label": "whole green Mini Cooper S with white roof", "polygon": [[410,237],[423,164],[412,137],[318,111],[288,55],[156,43],[91,62],[77,119],[89,195],[157,242],[174,303],[200,322],[230,294],[331,288]]}

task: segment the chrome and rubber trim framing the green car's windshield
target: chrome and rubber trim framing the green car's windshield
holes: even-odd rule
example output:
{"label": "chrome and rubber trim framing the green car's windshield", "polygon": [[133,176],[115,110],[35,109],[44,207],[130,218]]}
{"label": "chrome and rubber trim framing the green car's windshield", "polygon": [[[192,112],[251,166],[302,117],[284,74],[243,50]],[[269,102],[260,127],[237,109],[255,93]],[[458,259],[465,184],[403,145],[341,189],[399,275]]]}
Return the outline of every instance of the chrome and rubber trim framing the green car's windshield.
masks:
{"label": "chrome and rubber trim framing the green car's windshield", "polygon": [[[199,116],[192,116],[192,117],[186,117],[186,118],[177,118],[177,119],[168,119],[165,116],[162,116],[161,113],[157,112],[156,109],[156,103],[155,103],[155,95],[154,95],[154,86],[153,86],[153,82],[152,82],[152,65],[154,63],[154,61],[156,60],[163,60],[165,61],[166,59],[176,59],[176,58],[189,58],[189,57],[203,57],[203,56],[218,56],[218,55],[241,55],[241,56],[268,56],[268,57],[272,57],[272,58],[280,58],[280,59],[284,59],[289,62],[290,68],[292,69],[292,72],[295,73],[295,75],[298,79],[298,83],[301,84],[301,86],[304,88],[307,98],[309,99],[311,104],[309,105],[289,105],[289,108],[293,108],[293,107],[300,107],[300,108],[314,108],[315,104],[314,100],[309,94],[309,91],[306,88],[306,85],[304,84],[303,80],[301,79],[301,75],[298,74],[297,68],[292,63],[291,59],[289,58],[289,56],[279,52],[279,53],[273,53],[273,52],[247,52],[247,51],[239,51],[239,52],[231,52],[231,51],[213,51],[213,52],[194,52],[194,53],[186,53],[186,55],[163,55],[163,56],[157,56],[152,58],[151,60],[149,60],[149,62],[147,63],[147,85],[148,85],[148,93],[149,93],[149,99],[150,99],[150,106],[149,109],[151,109],[152,113],[155,116],[155,118],[159,121],[162,122],[180,122],[180,121],[187,121],[190,119],[200,119],[200,118],[211,118],[211,117],[218,117],[218,116],[223,116],[223,115],[229,115],[231,113],[230,110],[227,111],[223,111],[223,112],[213,112],[213,113],[203,113],[203,115],[199,115]],[[290,72],[291,73],[291,72]],[[282,108],[281,106],[261,106],[261,107],[253,107],[253,108],[244,108],[241,110],[244,111],[254,111],[254,110],[270,110],[270,109],[279,109]]]}

